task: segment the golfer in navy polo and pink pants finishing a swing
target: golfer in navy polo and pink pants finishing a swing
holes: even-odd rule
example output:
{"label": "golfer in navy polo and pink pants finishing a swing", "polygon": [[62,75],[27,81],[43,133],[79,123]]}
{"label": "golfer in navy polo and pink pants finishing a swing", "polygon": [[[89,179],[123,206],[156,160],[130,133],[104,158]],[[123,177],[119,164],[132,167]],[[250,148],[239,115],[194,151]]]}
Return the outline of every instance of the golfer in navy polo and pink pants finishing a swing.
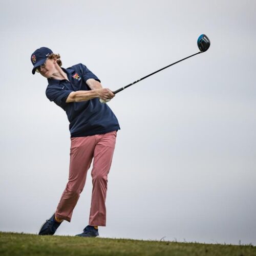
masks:
{"label": "golfer in navy polo and pink pants finishing a swing", "polygon": [[63,220],[71,221],[73,209],[92,168],[92,201],[89,225],[80,237],[97,237],[98,226],[106,225],[106,190],[115,148],[118,120],[107,104],[115,95],[103,89],[100,80],[83,64],[61,68],[59,54],[46,47],[31,55],[32,73],[48,80],[46,96],[66,111],[71,134],[69,179],[56,211],[40,228],[39,235],[54,234]]}

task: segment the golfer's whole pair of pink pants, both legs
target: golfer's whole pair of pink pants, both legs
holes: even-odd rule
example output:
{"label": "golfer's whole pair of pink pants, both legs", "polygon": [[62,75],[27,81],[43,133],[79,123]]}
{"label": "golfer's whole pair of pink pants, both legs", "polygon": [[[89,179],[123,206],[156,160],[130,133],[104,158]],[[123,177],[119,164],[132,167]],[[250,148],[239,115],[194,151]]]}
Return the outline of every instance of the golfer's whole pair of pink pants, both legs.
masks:
{"label": "golfer's whole pair of pink pants, both legs", "polygon": [[108,174],[114,154],[116,131],[86,137],[71,138],[69,181],[64,190],[55,216],[71,221],[73,209],[86,183],[92,159],[92,201],[89,225],[106,225],[106,189]]}

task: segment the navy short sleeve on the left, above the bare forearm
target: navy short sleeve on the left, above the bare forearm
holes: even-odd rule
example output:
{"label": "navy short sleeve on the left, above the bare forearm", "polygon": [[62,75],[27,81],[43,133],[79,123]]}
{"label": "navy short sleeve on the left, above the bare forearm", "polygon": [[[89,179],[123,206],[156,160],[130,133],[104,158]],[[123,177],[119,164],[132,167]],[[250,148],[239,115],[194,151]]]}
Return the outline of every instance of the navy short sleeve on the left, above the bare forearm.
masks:
{"label": "navy short sleeve on the left, above the bare forearm", "polygon": [[60,108],[66,110],[66,100],[70,93],[73,91],[70,90],[62,90],[60,88],[47,88],[46,89],[46,96],[50,101],[54,101]]}

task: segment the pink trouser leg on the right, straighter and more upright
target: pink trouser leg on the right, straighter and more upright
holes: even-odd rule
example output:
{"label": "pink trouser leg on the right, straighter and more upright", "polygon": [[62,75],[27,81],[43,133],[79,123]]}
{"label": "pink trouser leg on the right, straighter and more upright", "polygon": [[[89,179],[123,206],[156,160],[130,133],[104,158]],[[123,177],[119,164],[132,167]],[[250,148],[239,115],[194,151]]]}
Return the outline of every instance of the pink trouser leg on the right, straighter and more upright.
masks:
{"label": "pink trouser leg on the right, straighter and more upright", "polygon": [[106,189],[115,143],[116,131],[97,135],[92,169],[93,191],[89,219],[90,226],[106,225]]}

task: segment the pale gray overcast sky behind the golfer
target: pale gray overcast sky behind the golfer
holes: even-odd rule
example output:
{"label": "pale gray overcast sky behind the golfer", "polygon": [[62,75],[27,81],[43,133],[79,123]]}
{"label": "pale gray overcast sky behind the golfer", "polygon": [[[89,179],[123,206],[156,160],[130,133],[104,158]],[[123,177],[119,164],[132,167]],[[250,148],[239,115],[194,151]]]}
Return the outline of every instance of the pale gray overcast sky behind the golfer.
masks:
{"label": "pale gray overcast sky behind the golfer", "polygon": [[[256,245],[255,1],[1,0],[0,230],[37,233],[68,180],[66,113],[32,75],[42,46],[119,93],[101,237]],[[71,223],[88,224],[91,175]]]}

